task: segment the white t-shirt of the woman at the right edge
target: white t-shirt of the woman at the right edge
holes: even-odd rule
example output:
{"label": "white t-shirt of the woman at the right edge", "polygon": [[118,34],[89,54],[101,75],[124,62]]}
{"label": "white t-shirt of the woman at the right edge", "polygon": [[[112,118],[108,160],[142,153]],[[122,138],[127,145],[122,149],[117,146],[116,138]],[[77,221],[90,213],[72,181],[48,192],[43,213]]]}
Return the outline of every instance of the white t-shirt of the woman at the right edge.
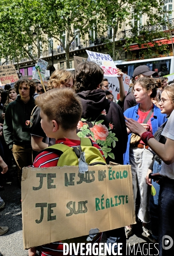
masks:
{"label": "white t-shirt of the woman at the right edge", "polygon": [[[174,110],[172,111],[170,118],[162,131],[162,136],[174,140]],[[174,180],[174,163],[167,165],[162,161],[160,174]]]}

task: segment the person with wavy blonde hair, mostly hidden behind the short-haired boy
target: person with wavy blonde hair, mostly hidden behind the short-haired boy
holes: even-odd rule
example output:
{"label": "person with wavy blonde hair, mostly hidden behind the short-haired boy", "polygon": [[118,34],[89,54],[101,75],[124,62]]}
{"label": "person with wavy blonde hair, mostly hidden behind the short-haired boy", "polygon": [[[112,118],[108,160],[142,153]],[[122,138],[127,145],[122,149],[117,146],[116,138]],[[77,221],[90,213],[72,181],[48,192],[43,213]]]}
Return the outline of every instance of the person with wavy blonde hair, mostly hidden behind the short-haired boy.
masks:
{"label": "person with wavy blonde hair, mostly hidden behind the short-haired boy", "polygon": [[[47,90],[61,89],[61,88],[73,87],[73,74],[68,70],[55,70],[50,76]],[[40,108],[35,110],[32,117],[32,126],[30,128],[32,136],[32,149],[34,151],[41,151],[49,145],[55,144],[54,139],[46,137],[43,129],[41,128]]]}

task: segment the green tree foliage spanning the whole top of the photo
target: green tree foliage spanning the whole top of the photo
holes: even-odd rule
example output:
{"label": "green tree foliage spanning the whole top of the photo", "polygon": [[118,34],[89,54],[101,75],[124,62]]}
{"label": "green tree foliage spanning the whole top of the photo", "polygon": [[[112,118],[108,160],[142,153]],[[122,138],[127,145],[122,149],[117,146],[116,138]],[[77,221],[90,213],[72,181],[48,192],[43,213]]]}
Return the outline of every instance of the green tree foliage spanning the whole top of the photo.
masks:
{"label": "green tree foliage spanning the whole top of the photo", "polygon": [[[110,26],[113,35],[107,42],[115,60],[119,29],[124,31],[127,25],[132,32],[131,36],[126,32],[123,36],[125,49],[129,50],[131,43],[139,48],[146,44],[150,53],[148,42],[168,37],[168,33],[161,32],[165,26],[163,6],[163,0],[0,0],[0,58],[29,57],[35,63],[41,56],[41,47],[47,47],[49,37],[62,45],[70,67],[70,47],[75,38],[83,39],[93,27],[102,35]],[[140,20],[141,14],[146,17],[146,26],[133,22]],[[66,31],[65,40],[62,31]],[[154,49],[159,48],[159,44],[153,44]]]}

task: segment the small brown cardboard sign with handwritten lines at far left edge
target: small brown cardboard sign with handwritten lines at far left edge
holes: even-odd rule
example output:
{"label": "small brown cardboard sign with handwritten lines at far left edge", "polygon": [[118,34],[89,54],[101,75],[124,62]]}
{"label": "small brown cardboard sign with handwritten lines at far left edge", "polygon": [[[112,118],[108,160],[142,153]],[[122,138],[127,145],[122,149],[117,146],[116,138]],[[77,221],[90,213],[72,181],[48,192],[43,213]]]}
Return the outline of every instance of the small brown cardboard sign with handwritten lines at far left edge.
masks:
{"label": "small brown cardboard sign with handwritten lines at far left edge", "polygon": [[0,81],[8,84],[19,80],[14,65],[0,66]]}

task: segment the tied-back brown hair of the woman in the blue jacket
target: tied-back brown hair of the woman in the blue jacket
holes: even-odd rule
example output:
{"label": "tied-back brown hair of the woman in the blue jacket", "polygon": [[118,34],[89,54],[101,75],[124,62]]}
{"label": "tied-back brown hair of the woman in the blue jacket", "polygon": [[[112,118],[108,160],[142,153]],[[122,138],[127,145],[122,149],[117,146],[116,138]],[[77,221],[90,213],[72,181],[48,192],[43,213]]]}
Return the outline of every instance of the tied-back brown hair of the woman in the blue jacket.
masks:
{"label": "tied-back brown hair of the woman in the blue jacket", "polygon": [[149,90],[152,90],[152,93],[150,95],[151,98],[155,98],[157,95],[157,90],[156,90],[156,84],[153,78],[149,78],[147,76],[139,78],[136,80],[136,82],[133,84],[132,89],[134,89],[134,86],[139,83],[139,85],[142,86],[148,92]]}

